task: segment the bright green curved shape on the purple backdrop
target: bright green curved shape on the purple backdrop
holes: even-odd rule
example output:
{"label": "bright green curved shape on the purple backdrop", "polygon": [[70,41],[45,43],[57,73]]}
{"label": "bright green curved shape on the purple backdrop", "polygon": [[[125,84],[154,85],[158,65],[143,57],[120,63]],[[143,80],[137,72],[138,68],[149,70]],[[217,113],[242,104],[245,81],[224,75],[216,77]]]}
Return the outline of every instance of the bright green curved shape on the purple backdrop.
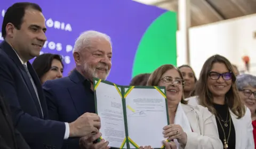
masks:
{"label": "bright green curved shape on the purple backdrop", "polygon": [[132,77],[151,73],[163,64],[177,65],[177,14],[167,11],[150,24],[134,57]]}

